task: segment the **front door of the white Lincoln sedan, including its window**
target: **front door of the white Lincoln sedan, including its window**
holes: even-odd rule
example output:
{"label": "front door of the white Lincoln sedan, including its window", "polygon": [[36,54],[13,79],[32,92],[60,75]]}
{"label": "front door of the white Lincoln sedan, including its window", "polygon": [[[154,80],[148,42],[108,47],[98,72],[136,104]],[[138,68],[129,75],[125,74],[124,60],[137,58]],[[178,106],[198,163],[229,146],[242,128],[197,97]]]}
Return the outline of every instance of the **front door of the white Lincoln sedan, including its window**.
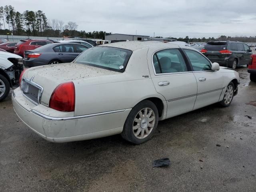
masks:
{"label": "front door of the white Lincoln sedan, including its window", "polygon": [[198,109],[220,99],[223,77],[220,71],[211,70],[211,62],[200,52],[183,49],[192,66],[193,74],[197,82],[197,97],[194,109]]}

